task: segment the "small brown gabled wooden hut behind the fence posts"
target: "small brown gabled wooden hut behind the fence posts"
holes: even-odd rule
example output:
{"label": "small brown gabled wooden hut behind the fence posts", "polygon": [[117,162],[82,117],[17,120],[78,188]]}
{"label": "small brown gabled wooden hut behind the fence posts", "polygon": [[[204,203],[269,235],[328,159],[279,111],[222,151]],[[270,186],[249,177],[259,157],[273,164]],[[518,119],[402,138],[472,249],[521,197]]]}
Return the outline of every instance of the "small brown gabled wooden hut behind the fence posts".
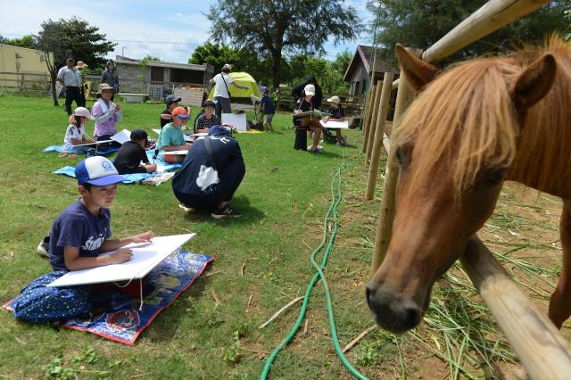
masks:
{"label": "small brown gabled wooden hut behind the fence posts", "polygon": [[[385,72],[393,72],[398,78],[399,70],[381,58],[385,49],[377,47],[377,67],[375,68],[375,81],[383,80]],[[349,82],[349,95],[363,95],[368,90],[373,65],[372,48],[367,45],[357,45],[352,60],[345,71],[343,80]]]}

